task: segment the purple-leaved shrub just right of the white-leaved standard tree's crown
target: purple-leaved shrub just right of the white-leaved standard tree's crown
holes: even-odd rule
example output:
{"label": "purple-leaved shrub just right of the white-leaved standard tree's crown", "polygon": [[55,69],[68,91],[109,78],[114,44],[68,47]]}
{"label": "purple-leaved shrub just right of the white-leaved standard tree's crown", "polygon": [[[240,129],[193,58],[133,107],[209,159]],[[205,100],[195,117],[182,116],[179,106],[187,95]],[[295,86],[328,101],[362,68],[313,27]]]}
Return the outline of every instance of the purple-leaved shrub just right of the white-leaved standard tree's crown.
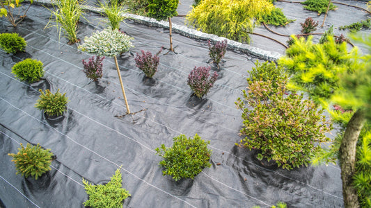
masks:
{"label": "purple-leaved shrub just right of the white-leaved standard tree's crown", "polygon": [[159,53],[161,53],[162,48],[159,50],[159,52],[156,53],[156,55],[152,56],[152,53],[150,51],[141,51],[142,55],[139,53],[136,53],[135,57],[135,63],[136,67],[141,69],[145,76],[148,78],[152,78],[155,73],[157,72],[157,67],[159,65]]}

